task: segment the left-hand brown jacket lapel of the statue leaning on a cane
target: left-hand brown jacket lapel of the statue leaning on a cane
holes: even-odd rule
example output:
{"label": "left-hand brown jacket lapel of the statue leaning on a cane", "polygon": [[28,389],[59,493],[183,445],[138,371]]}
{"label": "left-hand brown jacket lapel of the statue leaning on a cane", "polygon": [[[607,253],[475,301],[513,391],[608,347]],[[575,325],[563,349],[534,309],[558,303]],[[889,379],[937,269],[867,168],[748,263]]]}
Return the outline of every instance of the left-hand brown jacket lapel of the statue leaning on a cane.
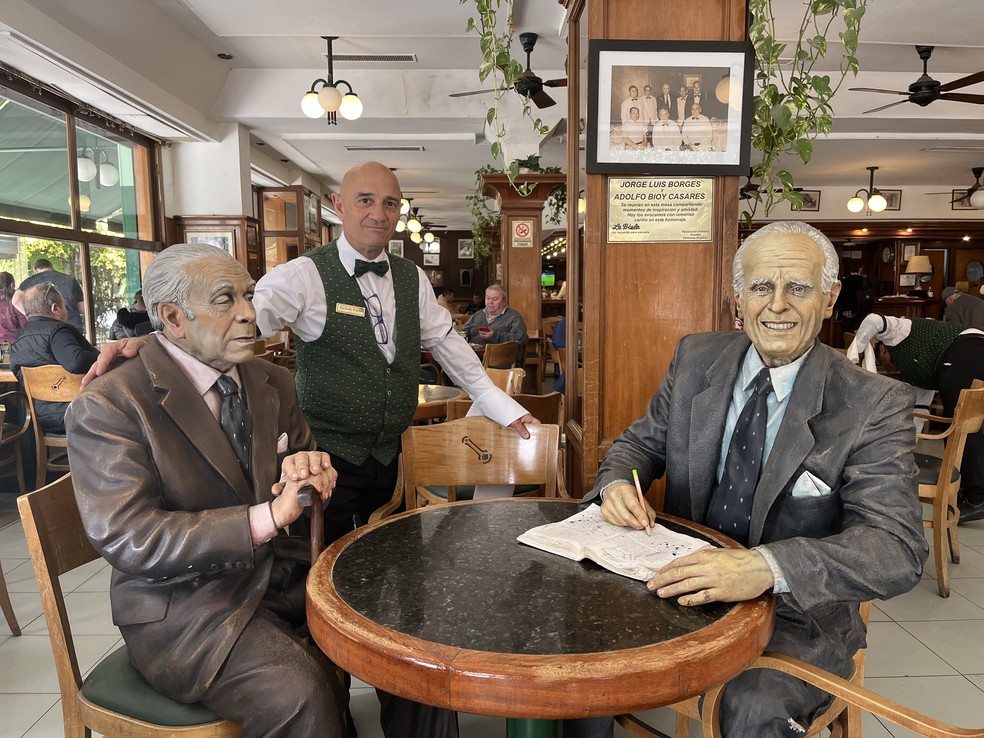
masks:
{"label": "left-hand brown jacket lapel of the statue leaning on a cane", "polygon": [[[254,495],[246,483],[239,459],[226,441],[218,421],[212,417],[205,400],[167,355],[156,337],[152,337],[140,349],[140,359],[154,388],[162,393],[161,409],[188,439],[194,452],[228,482],[229,488],[235,492],[240,502],[253,504]],[[255,442],[253,455],[255,458]]]}

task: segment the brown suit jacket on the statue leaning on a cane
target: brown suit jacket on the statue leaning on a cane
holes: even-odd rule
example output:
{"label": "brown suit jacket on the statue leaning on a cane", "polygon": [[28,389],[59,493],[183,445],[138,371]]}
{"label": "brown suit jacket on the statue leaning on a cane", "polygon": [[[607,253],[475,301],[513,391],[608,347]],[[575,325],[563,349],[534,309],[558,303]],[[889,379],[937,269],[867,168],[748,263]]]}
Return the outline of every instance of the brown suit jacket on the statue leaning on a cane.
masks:
{"label": "brown suit jacket on the statue leaning on a cane", "polygon": [[113,567],[110,597],[137,669],[195,701],[266,594],[280,537],[255,551],[247,510],[271,499],[288,452],[314,439],[290,373],[239,366],[253,416],[250,486],[218,421],[156,337],[87,387],[66,416],[75,496]]}

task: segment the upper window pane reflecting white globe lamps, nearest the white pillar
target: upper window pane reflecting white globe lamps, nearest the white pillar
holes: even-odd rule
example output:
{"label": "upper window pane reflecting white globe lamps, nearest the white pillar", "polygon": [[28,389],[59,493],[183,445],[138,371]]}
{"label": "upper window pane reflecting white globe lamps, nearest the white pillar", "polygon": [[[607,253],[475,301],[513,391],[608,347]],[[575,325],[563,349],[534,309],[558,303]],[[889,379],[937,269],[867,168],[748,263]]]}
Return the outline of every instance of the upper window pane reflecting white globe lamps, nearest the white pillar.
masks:
{"label": "upper window pane reflecting white globe lamps, nearest the white pillar", "polygon": [[147,147],[84,121],[75,136],[82,230],[153,238]]}

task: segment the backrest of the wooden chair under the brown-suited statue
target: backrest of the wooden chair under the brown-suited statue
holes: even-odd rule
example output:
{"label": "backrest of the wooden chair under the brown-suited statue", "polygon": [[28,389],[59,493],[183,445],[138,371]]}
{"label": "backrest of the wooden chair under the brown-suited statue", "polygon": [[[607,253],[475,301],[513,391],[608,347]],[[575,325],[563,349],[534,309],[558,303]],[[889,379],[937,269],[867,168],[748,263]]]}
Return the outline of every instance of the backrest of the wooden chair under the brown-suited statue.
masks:
{"label": "backrest of the wooden chair under the brown-suited statue", "polygon": [[71,474],[21,495],[17,507],[38,579],[62,702],[66,710],[75,709],[82,674],[58,577],[98,559],[99,554],[85,536]]}

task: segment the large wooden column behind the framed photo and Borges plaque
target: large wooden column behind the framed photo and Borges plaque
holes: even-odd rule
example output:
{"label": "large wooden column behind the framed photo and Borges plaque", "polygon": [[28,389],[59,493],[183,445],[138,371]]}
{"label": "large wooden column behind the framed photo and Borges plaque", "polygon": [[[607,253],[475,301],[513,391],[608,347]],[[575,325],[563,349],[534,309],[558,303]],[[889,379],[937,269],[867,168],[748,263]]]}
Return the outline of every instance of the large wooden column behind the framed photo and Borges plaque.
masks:
{"label": "large wooden column behind the framed photo and Borges plaque", "polygon": [[[589,39],[745,37],[745,0],[596,0],[586,12]],[[581,84],[597,81],[582,78]],[[593,115],[588,111],[589,125]],[[677,341],[688,333],[730,329],[734,315],[739,177],[713,178],[709,243],[609,243],[608,180],[607,174],[587,176],[584,281],[568,295],[569,304],[581,301],[584,314],[584,386],[575,390],[583,400],[567,428],[572,495],[591,488],[612,441],[645,412]],[[574,258],[570,251],[568,256]],[[659,496],[661,483],[654,490]]]}

